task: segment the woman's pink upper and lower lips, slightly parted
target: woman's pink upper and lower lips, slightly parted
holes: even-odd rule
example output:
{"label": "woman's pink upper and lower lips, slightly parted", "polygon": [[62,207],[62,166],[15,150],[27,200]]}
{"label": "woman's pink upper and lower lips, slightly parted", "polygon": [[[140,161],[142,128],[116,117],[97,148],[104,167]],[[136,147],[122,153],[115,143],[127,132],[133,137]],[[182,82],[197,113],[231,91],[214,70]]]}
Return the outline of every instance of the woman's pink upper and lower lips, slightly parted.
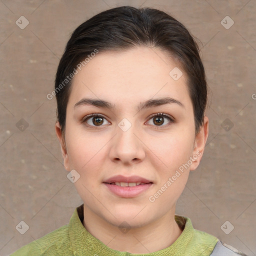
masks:
{"label": "woman's pink upper and lower lips, slightly parted", "polygon": [[[120,186],[120,185],[115,185],[114,182],[126,182],[126,183],[140,182],[144,184],[139,184],[135,186]],[[112,176],[104,180],[103,183],[106,185],[106,187],[108,187],[108,189],[112,193],[125,198],[135,197],[136,195],[147,190],[153,184],[153,182],[149,181],[148,179],[145,179],[139,176],[125,177],[122,175]]]}

